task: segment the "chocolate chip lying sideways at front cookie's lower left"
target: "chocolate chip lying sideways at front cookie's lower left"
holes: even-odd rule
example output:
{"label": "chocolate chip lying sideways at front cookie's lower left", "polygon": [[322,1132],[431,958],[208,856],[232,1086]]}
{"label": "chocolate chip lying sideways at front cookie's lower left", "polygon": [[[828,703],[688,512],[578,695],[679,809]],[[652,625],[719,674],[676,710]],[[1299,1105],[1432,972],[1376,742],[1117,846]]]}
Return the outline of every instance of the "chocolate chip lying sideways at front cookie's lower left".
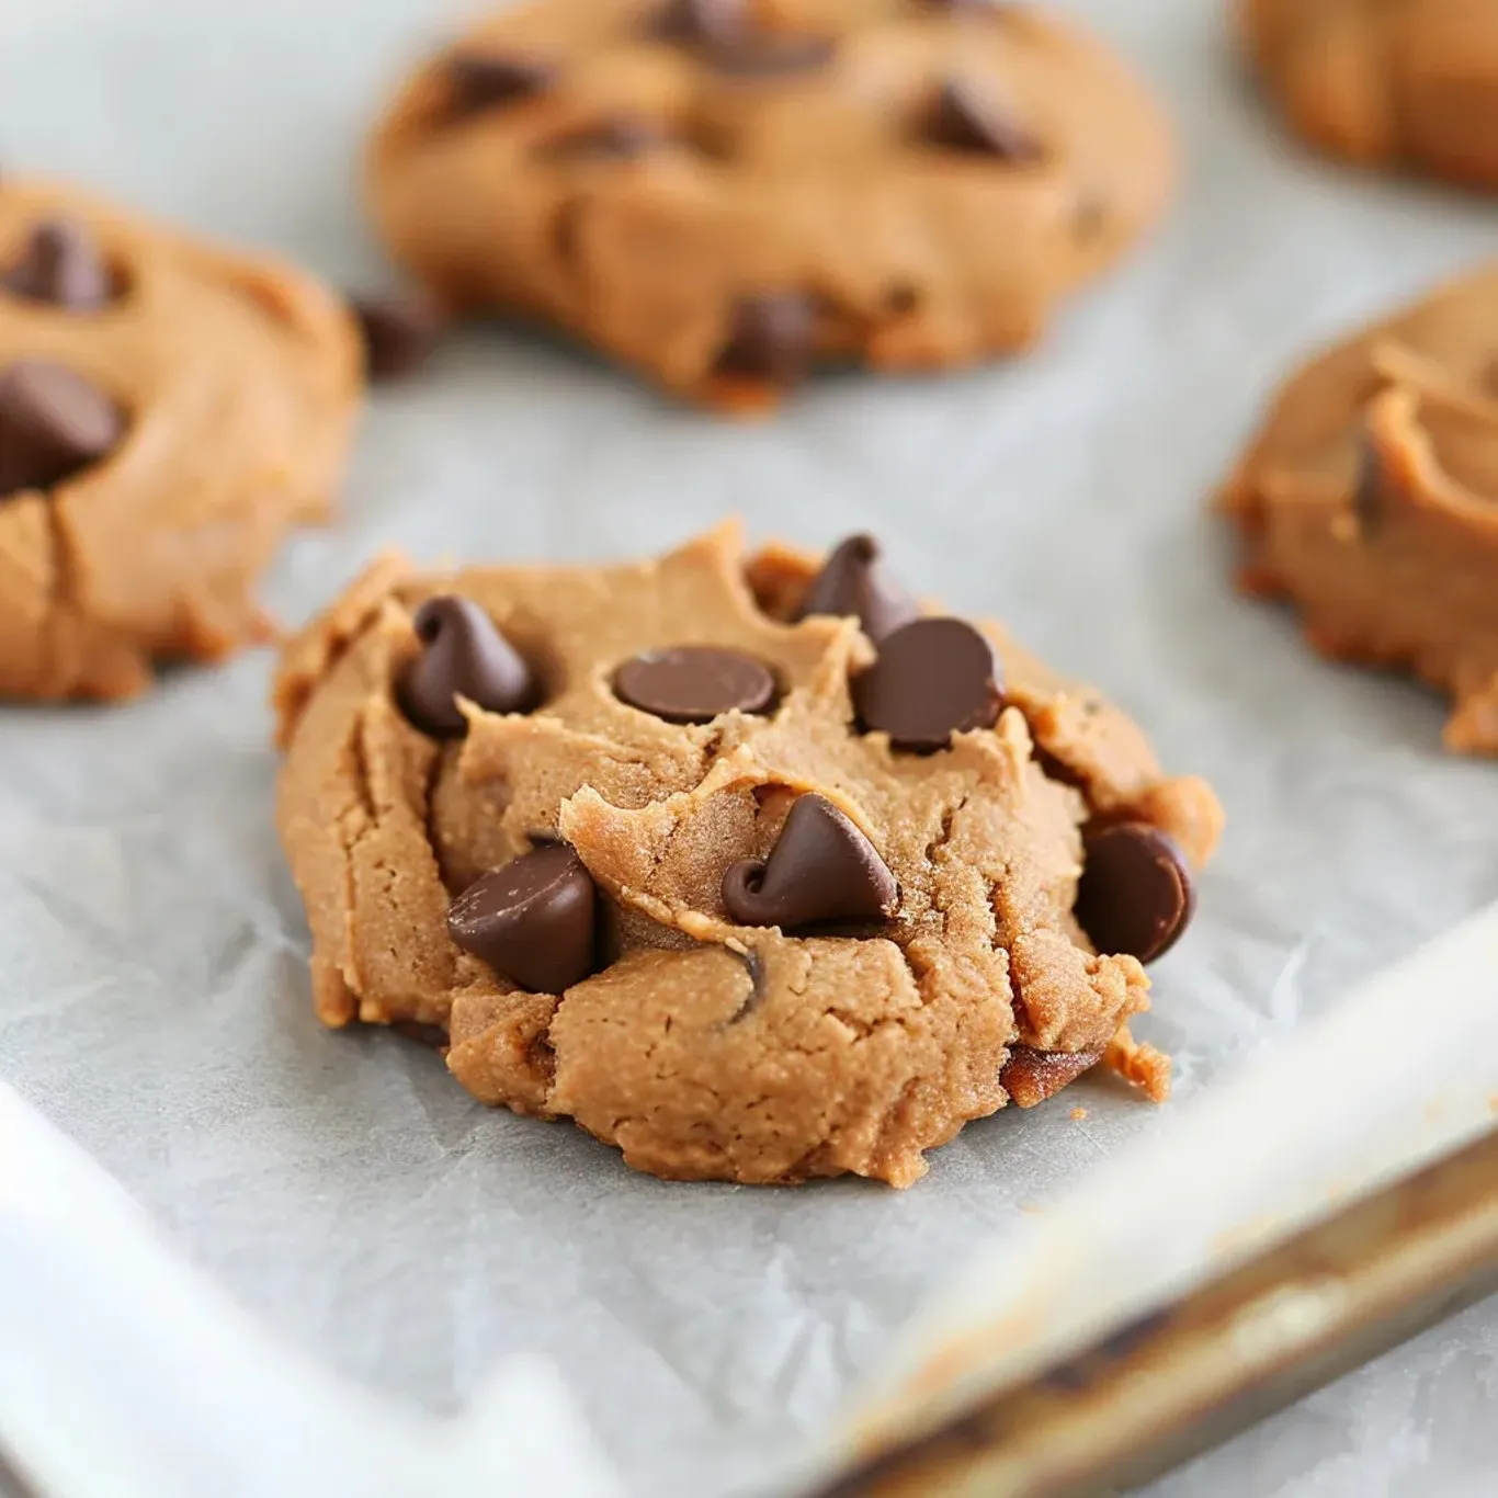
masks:
{"label": "chocolate chip lying sideways at front cookie's lower left", "polygon": [[593,876],[547,843],[470,884],[448,909],[464,951],[530,993],[565,993],[593,971]]}

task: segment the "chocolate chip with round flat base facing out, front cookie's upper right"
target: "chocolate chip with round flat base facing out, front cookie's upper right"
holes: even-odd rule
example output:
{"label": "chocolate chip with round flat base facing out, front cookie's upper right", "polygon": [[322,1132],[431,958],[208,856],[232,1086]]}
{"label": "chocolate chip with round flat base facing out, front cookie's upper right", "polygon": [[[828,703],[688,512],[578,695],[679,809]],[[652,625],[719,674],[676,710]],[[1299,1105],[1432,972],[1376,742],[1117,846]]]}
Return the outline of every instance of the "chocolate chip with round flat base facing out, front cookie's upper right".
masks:
{"label": "chocolate chip with round flat base facing out, front cookie's upper right", "polygon": [[864,733],[896,749],[935,753],[953,734],[992,728],[1004,706],[993,646],[960,619],[917,619],[879,643],[879,659],[852,683]]}

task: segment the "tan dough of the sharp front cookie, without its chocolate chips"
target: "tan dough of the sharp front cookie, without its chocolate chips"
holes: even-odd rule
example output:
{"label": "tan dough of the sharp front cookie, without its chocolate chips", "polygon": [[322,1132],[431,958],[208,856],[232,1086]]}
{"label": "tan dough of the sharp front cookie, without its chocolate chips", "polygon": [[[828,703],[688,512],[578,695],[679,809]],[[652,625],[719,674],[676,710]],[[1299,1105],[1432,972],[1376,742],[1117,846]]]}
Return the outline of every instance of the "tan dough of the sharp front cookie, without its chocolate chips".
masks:
{"label": "tan dough of the sharp front cookie, without its chocolate chips", "polygon": [[[748,560],[724,526],[656,562],[415,572],[386,557],[285,656],[279,824],[313,933],[328,1025],[451,1034],[475,1097],[571,1115],[673,1179],[909,1185],[923,1150],[1104,1055],[1155,1097],[1167,1064],[1128,1035],[1149,983],[1071,915],[1089,816],[1171,833],[1200,863],[1221,813],[1167,779],[1138,730],[984,626],[1007,674],[992,730],[933,755],[852,724],[852,619],[788,625],[818,560]],[[529,715],[464,706],[463,739],[413,728],[392,683],[427,598],[478,601],[542,679]],[[610,689],[620,661],[682,643],[768,664],[779,703],[668,724]],[[774,846],[804,792],[833,801],[899,879],[857,935],[736,926],[725,869]],[[565,839],[604,906],[598,971],[523,993],[448,936],[451,897]],[[1053,1053],[1065,1053],[1050,1059]],[[1044,1053],[1044,1055],[1037,1055]]]}

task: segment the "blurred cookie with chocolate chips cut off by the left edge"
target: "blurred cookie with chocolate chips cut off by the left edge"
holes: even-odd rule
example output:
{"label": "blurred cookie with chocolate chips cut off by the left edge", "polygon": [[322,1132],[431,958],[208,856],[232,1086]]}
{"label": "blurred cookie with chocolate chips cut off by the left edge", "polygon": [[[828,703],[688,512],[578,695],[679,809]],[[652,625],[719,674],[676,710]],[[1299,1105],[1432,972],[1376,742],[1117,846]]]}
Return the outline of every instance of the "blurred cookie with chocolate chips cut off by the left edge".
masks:
{"label": "blurred cookie with chocolate chips cut off by the left edge", "polygon": [[360,358],[300,271],[0,178],[0,695],[132,697],[264,638],[255,581],[328,508]]}

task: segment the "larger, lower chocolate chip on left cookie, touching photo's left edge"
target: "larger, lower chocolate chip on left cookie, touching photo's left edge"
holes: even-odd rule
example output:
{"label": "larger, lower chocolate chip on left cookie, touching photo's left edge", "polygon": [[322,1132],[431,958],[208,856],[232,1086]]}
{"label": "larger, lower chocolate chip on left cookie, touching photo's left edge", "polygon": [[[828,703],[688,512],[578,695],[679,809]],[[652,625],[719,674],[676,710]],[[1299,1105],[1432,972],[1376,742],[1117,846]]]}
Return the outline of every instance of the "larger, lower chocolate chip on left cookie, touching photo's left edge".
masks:
{"label": "larger, lower chocolate chip on left cookie, touching photo's left edge", "polygon": [[0,370],[0,497],[51,488],[120,440],[124,418],[96,385],[61,364]]}

